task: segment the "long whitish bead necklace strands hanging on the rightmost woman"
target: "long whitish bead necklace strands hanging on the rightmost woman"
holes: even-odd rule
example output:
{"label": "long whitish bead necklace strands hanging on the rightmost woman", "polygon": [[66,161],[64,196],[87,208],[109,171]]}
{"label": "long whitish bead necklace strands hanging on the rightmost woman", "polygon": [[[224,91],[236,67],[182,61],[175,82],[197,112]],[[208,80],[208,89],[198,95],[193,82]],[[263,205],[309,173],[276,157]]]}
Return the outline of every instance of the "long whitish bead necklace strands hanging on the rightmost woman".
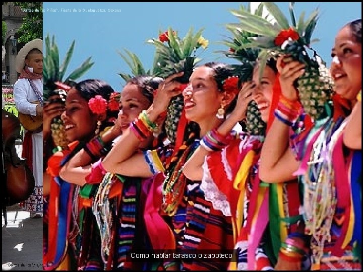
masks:
{"label": "long whitish bead necklace strands hanging on the rightmost woman", "polygon": [[319,263],[326,241],[330,241],[330,229],[337,205],[334,169],[331,162],[335,144],[346,120],[328,120],[313,144],[304,175],[304,211],[306,232],[313,236],[313,260]]}

